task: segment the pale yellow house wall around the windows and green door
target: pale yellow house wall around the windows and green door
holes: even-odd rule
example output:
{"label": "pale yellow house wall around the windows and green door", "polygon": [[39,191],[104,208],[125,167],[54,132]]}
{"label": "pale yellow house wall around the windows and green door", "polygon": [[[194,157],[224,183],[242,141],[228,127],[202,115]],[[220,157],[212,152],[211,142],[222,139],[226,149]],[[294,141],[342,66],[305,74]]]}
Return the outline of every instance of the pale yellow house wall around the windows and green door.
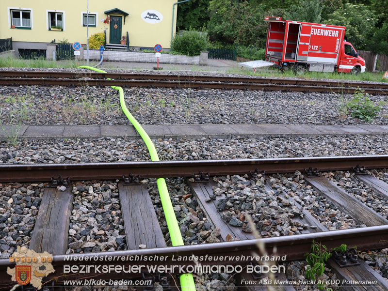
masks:
{"label": "pale yellow house wall around the windows and green door", "polygon": [[[173,3],[176,0],[89,0],[89,12],[97,13],[97,27],[89,27],[89,36],[97,32],[107,31],[109,43],[110,24],[104,24],[101,19],[107,15],[104,11],[114,8],[129,13],[122,15],[122,35],[129,33],[129,46],[170,47]],[[12,29],[11,15],[8,7],[31,10],[32,29]],[[64,13],[64,30],[49,31],[48,12]],[[163,15],[162,21],[150,24],[141,18],[146,10],[156,10]],[[48,1],[48,0],[0,0],[0,38],[12,37],[16,42],[49,43],[52,40],[67,39],[69,43],[75,41],[86,44],[86,27],[82,26],[81,12],[86,12],[86,0]],[[174,12],[174,34],[177,19],[177,7]],[[118,15],[120,16],[120,15]]]}

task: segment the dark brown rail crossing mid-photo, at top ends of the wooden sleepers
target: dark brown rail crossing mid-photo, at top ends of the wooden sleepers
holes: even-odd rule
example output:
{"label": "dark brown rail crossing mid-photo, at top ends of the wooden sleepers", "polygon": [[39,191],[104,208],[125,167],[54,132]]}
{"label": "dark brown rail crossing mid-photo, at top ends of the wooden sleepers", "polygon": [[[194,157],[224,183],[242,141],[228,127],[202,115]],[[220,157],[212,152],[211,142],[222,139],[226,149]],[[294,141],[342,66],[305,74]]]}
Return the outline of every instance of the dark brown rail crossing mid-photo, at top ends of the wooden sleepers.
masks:
{"label": "dark brown rail crossing mid-photo, at top ends of the wooden sleepers", "polygon": [[321,171],[350,170],[357,165],[387,168],[388,155],[233,159],[159,162],[113,162],[77,164],[0,164],[0,182],[43,182],[61,175],[72,181],[121,179],[123,175],[142,178],[190,177],[203,171],[210,176],[248,174],[256,169],[266,173],[287,173],[313,167]]}

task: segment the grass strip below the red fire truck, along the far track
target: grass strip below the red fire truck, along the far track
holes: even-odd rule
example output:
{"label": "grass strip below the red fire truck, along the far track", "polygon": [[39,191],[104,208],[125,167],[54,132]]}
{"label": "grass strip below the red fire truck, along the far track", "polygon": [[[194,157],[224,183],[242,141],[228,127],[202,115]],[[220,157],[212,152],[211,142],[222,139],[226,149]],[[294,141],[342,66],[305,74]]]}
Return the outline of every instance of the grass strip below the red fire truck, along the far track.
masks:
{"label": "grass strip below the red fire truck, along the far track", "polygon": [[351,80],[351,81],[372,81],[372,82],[387,82],[388,79],[383,79],[383,73],[360,73],[358,75],[348,73],[321,73],[321,72],[306,72],[302,76],[295,75],[292,70],[282,72],[277,69],[268,70],[241,70],[240,68],[232,68],[226,70],[228,74],[242,74],[248,76],[259,76],[259,77],[301,77],[305,79],[338,79],[338,80]]}

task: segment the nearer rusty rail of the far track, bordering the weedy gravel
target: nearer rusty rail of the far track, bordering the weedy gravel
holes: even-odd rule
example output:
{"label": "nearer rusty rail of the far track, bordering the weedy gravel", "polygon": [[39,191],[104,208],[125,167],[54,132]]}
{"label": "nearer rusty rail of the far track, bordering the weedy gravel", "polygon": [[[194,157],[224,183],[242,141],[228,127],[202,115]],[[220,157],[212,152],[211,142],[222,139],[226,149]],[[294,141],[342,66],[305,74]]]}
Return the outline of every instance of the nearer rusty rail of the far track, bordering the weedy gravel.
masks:
{"label": "nearer rusty rail of the far track, bordering the weedy gravel", "polygon": [[[217,83],[164,80],[105,80],[105,79],[31,79],[0,78],[0,85],[7,86],[120,86],[176,89],[237,89],[293,92],[354,93],[356,88],[325,87],[307,85],[257,84],[257,83]],[[369,94],[388,94],[388,89],[364,89]]]}

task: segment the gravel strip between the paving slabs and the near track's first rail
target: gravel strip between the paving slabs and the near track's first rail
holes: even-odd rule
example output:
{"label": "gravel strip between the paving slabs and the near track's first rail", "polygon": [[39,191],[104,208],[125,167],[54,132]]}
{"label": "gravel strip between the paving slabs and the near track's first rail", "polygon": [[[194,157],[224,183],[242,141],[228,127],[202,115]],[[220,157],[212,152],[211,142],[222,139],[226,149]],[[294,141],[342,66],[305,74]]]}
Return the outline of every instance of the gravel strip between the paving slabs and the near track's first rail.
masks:
{"label": "gravel strip between the paving slabs and the near track's first rail", "polygon": [[[385,135],[156,139],[161,160],[251,159],[387,154]],[[142,140],[125,138],[0,141],[0,163],[51,164],[150,160]]]}

